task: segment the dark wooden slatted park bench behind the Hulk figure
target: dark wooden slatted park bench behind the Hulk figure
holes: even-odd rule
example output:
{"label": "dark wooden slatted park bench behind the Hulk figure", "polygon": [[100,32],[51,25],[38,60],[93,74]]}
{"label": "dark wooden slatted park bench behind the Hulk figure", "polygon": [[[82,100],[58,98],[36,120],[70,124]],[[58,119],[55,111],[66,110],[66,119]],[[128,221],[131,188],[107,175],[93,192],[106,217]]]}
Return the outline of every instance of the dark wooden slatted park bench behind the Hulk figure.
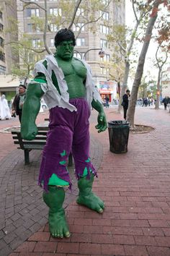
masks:
{"label": "dark wooden slatted park bench behind the Hulk figure", "polygon": [[[20,129],[12,130],[12,137],[14,144],[19,145],[19,149],[24,150],[24,164],[30,164],[30,151],[31,150],[42,150],[45,146],[47,139],[48,127],[37,127],[38,133],[35,140],[23,140],[21,137]],[[72,154],[68,156],[68,166],[73,165]]]}

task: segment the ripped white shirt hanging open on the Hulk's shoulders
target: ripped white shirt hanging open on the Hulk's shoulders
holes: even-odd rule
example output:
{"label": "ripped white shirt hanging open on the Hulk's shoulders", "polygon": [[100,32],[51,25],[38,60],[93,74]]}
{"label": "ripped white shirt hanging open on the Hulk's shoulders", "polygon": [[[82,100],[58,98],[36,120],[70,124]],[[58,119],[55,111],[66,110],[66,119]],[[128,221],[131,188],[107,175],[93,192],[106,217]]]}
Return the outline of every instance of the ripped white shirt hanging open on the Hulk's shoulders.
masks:
{"label": "ripped white shirt hanging open on the Hulk's shoulders", "polygon": [[[78,58],[75,58],[78,59]],[[85,61],[78,59],[81,61],[87,69],[86,73],[86,101],[89,103],[89,107],[91,106],[91,102],[99,101],[102,103],[102,99],[99,95],[98,89],[94,86],[94,81],[92,79],[91,67]],[[43,65],[43,62],[47,61],[47,69]],[[60,93],[58,93],[57,88],[53,85],[52,81],[52,70],[55,73],[55,77],[58,80],[58,88],[60,89]],[[61,108],[67,108],[70,111],[76,111],[76,107],[69,103],[69,94],[68,94],[68,85],[66,80],[64,80],[64,74],[60,67],[58,67],[58,62],[53,55],[48,55],[45,59],[38,61],[35,64],[35,69],[33,71],[34,76],[40,72],[45,74],[47,83],[40,83],[43,92],[43,98],[48,108],[54,108],[55,106],[59,106]],[[32,81],[31,83],[35,83]]]}

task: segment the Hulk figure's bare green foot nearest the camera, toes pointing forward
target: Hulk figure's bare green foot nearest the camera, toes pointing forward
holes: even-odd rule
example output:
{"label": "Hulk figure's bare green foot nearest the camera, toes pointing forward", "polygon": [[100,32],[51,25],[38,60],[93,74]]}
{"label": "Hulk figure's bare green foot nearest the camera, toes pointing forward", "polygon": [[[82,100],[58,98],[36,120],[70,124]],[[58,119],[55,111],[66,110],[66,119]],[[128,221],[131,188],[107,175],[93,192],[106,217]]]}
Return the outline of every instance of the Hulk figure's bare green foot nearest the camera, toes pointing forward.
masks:
{"label": "Hulk figure's bare green foot nearest the camera, toes pointing forward", "polygon": [[50,234],[53,237],[68,238],[70,236],[65,212],[63,209],[59,210],[57,213],[54,213],[50,210],[48,215],[48,221],[49,221]]}

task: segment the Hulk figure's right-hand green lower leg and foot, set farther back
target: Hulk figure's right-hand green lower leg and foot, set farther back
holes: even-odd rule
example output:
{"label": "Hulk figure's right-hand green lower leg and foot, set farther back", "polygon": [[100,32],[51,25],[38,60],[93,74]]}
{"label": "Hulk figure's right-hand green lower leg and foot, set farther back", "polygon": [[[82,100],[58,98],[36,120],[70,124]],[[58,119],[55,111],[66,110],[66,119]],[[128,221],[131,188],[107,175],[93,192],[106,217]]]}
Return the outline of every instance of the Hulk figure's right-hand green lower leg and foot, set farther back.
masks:
{"label": "Hulk figure's right-hand green lower leg and foot, set farther back", "polygon": [[91,210],[96,210],[97,213],[102,213],[104,210],[104,202],[92,192],[93,182],[93,174],[91,174],[90,179],[86,179],[86,176],[79,179],[79,197],[76,202],[80,205],[85,205]]}

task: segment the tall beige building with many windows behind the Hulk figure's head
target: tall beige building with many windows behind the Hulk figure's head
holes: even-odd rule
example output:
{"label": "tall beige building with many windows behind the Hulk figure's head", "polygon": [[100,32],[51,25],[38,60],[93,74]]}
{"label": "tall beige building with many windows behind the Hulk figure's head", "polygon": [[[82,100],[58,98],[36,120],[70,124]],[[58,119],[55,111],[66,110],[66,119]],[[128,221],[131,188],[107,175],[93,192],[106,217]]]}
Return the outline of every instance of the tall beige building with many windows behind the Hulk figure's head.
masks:
{"label": "tall beige building with many windows behind the Hulk figure's head", "polygon": [[[50,51],[55,51],[54,38],[58,30],[66,25],[68,5],[73,1],[47,0],[48,31],[46,35]],[[75,56],[85,59],[92,68],[94,83],[99,88],[102,97],[109,95],[110,101],[116,98],[117,82],[109,79],[109,61],[112,60],[112,48],[109,47],[107,35],[111,32],[114,23],[125,25],[125,0],[99,0],[102,8],[94,10],[92,1],[84,1],[76,12],[75,23],[71,29],[76,35]],[[65,5],[64,5],[65,3]],[[25,34],[30,36],[32,47],[41,49],[43,43],[43,21],[45,19],[44,0],[32,0],[32,4],[23,6],[23,1],[17,0],[17,21],[19,39]],[[67,11],[64,10],[67,4]],[[71,12],[72,13],[72,12]],[[92,18],[91,18],[92,17]],[[97,22],[91,22],[91,20]],[[41,22],[38,22],[42,21]],[[63,25],[61,25],[63,24]],[[104,51],[104,56],[99,56],[99,51]],[[44,52],[44,56],[47,53]],[[37,54],[32,52],[32,57]],[[42,54],[41,54],[42,56]],[[37,58],[38,59],[38,58]],[[35,59],[35,61],[37,61]],[[19,63],[23,61],[20,58]]]}

